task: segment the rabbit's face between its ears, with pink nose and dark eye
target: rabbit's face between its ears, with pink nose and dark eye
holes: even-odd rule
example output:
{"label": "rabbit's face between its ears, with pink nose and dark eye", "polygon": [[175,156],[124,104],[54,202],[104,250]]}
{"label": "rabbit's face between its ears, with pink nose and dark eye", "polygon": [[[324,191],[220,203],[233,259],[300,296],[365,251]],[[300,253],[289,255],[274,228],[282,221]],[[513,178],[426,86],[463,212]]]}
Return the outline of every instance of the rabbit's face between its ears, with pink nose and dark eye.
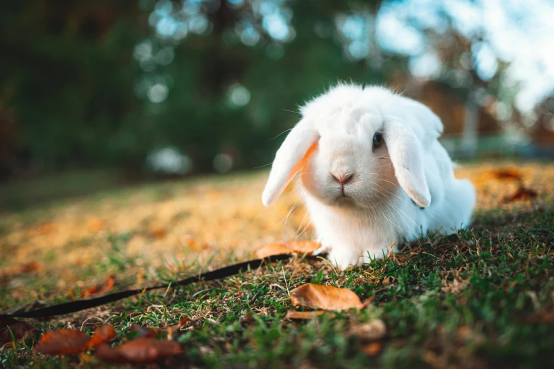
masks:
{"label": "rabbit's face between its ears, with pink nose and dark eye", "polygon": [[[341,120],[341,117],[334,117]],[[383,123],[370,113],[325,124],[318,148],[307,158],[301,183],[330,206],[367,209],[396,194],[398,181],[383,137]]]}

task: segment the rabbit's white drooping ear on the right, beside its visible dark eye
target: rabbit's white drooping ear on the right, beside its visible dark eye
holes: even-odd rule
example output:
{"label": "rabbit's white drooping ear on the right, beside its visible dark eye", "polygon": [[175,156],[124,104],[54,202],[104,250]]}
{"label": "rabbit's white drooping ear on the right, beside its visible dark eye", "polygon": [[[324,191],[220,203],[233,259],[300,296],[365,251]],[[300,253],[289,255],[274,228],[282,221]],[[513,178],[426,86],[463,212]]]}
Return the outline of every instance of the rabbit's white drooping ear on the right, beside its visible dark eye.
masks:
{"label": "rabbit's white drooping ear on the right, beside its visible dark eye", "polygon": [[425,180],[420,140],[405,122],[391,119],[384,124],[384,138],[400,187],[415,204],[426,208],[431,194]]}

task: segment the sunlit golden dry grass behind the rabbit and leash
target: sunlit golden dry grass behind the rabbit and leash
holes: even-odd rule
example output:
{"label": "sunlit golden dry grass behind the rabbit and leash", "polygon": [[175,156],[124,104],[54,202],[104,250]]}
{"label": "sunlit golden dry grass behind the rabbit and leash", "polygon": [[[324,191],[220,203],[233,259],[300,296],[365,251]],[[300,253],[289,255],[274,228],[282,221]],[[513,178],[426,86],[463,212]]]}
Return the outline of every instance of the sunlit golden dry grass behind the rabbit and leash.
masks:
{"label": "sunlit golden dry grass behind the rabbit and leash", "polygon": [[[468,165],[456,175],[471,179],[477,187],[478,211],[529,206],[529,200],[504,201],[517,184],[493,178],[491,170],[499,166],[513,165]],[[524,184],[538,192],[538,201],[554,199],[553,164],[526,163],[517,168]],[[14,269],[34,263],[38,267],[31,271],[36,278],[56,276],[54,290],[84,288],[94,280],[83,273],[86,266],[109,263],[114,238],[124,238],[125,245],[120,247],[125,250],[118,251],[129,261],[125,274],[138,276],[136,283],[141,284],[149,271],[161,266],[182,270],[194,260],[202,264],[214,255],[212,265],[217,265],[227,262],[230,254],[248,259],[267,242],[311,238],[306,212],[292,188],[276,204],[262,206],[266,175],[258,172],[130,187],[1,214],[0,276],[13,276]],[[16,299],[29,292],[17,279],[8,281],[8,291]]]}

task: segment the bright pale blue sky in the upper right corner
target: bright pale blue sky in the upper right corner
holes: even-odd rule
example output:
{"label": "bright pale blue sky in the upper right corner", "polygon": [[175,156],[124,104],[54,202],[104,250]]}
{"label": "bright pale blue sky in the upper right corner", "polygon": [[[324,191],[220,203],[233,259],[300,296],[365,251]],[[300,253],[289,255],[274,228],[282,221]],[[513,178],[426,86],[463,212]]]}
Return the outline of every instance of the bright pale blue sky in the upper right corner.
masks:
{"label": "bright pale blue sky in the upper right corner", "polygon": [[[529,112],[554,90],[554,1],[549,0],[406,0],[386,1],[376,21],[380,46],[411,55],[415,74],[432,75],[437,61],[425,48],[425,40],[408,22],[445,27],[441,11],[467,37],[483,29],[484,42],[472,49],[477,71],[487,79],[497,69],[496,57],[511,65],[504,86],[519,83],[516,107]],[[421,62],[417,62],[420,61]]]}

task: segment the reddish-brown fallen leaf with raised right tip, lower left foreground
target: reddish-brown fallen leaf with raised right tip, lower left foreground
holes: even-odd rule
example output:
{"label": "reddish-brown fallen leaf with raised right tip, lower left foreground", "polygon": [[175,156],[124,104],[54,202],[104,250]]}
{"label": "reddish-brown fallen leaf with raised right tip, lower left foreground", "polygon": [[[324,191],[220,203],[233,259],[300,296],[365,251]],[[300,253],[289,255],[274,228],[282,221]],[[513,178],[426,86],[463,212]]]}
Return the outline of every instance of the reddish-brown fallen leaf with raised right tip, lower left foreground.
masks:
{"label": "reddish-brown fallen leaf with raised right tip, lower left foreground", "polygon": [[103,325],[96,329],[93,336],[73,329],[56,329],[48,331],[40,337],[35,352],[48,355],[71,355],[87,351],[115,337],[115,329]]}

